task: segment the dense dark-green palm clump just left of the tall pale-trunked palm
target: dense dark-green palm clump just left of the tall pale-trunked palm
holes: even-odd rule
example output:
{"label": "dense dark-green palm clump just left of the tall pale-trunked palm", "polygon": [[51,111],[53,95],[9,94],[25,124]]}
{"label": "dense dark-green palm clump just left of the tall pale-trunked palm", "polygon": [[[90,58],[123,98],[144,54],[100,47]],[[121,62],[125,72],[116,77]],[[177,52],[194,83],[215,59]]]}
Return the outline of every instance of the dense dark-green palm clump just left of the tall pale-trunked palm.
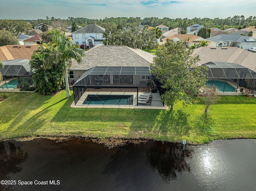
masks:
{"label": "dense dark-green palm clump just left of the tall pale-trunked palm", "polygon": [[38,87],[38,92],[42,95],[52,95],[59,91],[65,85],[64,70],[60,62],[52,62],[47,67],[47,58],[54,54],[55,44],[43,43],[32,55],[30,67],[36,72],[33,75],[33,81]]}

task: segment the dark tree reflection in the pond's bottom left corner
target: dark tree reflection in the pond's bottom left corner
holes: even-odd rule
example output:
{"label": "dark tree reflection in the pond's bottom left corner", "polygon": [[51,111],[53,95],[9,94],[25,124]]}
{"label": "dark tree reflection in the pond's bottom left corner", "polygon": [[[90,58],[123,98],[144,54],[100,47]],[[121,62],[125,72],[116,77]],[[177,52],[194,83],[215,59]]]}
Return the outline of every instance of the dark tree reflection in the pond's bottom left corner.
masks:
{"label": "dark tree reflection in the pond's bottom left corner", "polygon": [[[0,142],[0,180],[9,180],[10,173],[22,171],[18,166],[28,158],[28,153],[20,147],[16,147],[13,142]],[[0,185],[0,190],[11,191],[11,186]]]}

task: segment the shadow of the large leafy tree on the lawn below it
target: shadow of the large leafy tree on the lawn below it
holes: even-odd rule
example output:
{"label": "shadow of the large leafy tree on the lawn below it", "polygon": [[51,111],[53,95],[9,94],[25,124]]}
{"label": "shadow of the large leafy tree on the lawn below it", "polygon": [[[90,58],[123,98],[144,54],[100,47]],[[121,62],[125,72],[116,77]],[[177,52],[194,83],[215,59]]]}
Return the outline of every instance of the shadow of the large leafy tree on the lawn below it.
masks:
{"label": "shadow of the large leafy tree on the lawn below it", "polygon": [[162,135],[184,136],[189,135],[191,127],[188,124],[188,114],[182,110],[160,110],[150,127],[132,124],[131,132],[144,132]]}

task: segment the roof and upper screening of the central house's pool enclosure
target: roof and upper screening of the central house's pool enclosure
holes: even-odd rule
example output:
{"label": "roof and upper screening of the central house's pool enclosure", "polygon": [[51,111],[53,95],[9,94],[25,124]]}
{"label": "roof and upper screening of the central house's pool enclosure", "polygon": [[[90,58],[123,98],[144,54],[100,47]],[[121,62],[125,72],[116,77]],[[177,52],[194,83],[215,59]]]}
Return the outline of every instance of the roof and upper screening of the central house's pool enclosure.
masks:
{"label": "roof and upper screening of the central house's pool enclosure", "polygon": [[[150,67],[104,67],[88,69],[73,85],[75,104],[87,88],[130,89],[138,87],[156,88],[160,82],[150,74]],[[120,90],[121,91],[121,90]]]}

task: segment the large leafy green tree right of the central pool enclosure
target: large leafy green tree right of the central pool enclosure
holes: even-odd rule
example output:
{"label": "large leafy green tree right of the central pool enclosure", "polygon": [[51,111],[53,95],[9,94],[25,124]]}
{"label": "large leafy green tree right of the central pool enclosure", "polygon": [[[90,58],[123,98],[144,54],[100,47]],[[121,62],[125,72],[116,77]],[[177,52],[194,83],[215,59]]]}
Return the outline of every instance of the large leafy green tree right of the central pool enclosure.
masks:
{"label": "large leafy green tree right of the central pool enclosure", "polygon": [[156,49],[156,57],[150,65],[151,73],[164,84],[162,88],[166,91],[161,98],[171,109],[178,100],[190,104],[192,96],[200,93],[200,88],[205,85],[207,68],[196,67],[199,60],[199,56],[194,56],[193,50],[187,49],[182,41],[168,39]]}

